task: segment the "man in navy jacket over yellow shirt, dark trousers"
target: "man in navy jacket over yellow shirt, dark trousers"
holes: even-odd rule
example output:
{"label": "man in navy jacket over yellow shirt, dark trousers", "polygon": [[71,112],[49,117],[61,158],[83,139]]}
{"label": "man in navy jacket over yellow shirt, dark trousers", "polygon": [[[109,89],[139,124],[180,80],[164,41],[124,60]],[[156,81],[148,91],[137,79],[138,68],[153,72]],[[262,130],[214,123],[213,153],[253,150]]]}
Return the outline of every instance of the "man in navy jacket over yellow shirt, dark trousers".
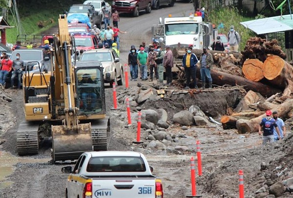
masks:
{"label": "man in navy jacket over yellow shirt, dark trousers", "polygon": [[195,54],[191,53],[192,47],[188,47],[187,53],[183,56],[182,65],[184,67],[185,77],[186,77],[186,87],[185,89],[189,89],[190,85],[190,77],[193,80],[194,88],[198,89],[197,81],[196,81],[196,64],[198,62]]}

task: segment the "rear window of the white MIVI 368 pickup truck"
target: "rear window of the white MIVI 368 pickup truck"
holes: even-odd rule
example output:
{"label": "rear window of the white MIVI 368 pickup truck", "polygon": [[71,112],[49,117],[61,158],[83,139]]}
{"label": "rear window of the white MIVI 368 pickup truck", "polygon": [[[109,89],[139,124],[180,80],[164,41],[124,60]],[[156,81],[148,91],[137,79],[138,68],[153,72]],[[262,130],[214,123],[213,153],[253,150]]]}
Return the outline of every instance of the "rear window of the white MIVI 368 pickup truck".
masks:
{"label": "rear window of the white MIVI 368 pickup truck", "polygon": [[94,157],[86,167],[87,172],[145,172],[144,160],[140,157]]}

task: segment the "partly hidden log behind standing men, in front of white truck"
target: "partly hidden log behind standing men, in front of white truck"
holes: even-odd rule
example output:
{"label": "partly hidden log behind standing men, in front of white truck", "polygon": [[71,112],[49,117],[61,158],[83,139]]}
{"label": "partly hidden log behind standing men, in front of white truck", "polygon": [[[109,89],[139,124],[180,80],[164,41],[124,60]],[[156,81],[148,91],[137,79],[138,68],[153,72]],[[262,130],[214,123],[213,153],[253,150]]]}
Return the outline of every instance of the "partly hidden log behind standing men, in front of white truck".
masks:
{"label": "partly hidden log behind standing men, in front of white truck", "polygon": [[[172,52],[173,52],[173,57],[176,58],[176,59],[183,59],[183,56],[186,54],[186,51],[185,51],[186,48],[173,48]],[[203,53],[203,50],[202,49],[193,49],[192,50],[192,53],[194,53],[196,55],[196,57],[198,59],[200,59],[200,56],[201,54]],[[223,52],[223,51],[216,51],[216,50],[209,50],[209,53],[211,53],[212,55],[213,54],[223,54],[223,56],[226,56],[226,55],[233,55],[233,57],[235,57],[236,59],[240,58],[241,56],[241,53],[238,53],[238,52]]]}

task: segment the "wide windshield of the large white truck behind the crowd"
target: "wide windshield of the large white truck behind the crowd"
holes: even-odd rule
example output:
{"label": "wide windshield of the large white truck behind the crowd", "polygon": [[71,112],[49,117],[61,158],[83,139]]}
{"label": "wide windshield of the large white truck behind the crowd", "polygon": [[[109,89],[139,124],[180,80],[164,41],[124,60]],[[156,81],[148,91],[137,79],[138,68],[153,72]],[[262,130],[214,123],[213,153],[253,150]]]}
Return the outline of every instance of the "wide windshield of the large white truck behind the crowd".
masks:
{"label": "wide windshield of the large white truck behind the crowd", "polygon": [[166,35],[197,34],[198,23],[169,24],[165,26]]}

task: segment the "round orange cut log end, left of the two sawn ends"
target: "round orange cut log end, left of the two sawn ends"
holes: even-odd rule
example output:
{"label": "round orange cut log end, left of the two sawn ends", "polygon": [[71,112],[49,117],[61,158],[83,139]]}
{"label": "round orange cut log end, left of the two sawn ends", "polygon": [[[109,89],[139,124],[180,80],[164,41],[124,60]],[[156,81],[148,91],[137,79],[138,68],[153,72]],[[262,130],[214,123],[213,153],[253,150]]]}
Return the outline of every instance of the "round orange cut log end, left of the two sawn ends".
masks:
{"label": "round orange cut log end, left of the two sawn ends", "polygon": [[264,63],[259,59],[246,59],[242,66],[242,72],[247,79],[258,82],[264,78],[263,65]]}

